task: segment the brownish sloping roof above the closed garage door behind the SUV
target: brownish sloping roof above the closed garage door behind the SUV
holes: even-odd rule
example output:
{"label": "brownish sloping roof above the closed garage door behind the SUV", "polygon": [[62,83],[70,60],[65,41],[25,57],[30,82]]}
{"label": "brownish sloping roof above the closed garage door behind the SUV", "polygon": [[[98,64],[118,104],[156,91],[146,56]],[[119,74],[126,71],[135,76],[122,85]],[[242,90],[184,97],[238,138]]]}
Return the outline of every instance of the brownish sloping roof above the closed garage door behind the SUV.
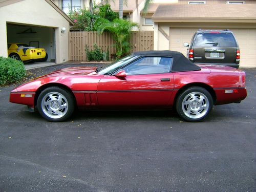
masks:
{"label": "brownish sloping roof above the closed garage door behind the SUV", "polygon": [[256,19],[256,4],[159,5],[153,19]]}

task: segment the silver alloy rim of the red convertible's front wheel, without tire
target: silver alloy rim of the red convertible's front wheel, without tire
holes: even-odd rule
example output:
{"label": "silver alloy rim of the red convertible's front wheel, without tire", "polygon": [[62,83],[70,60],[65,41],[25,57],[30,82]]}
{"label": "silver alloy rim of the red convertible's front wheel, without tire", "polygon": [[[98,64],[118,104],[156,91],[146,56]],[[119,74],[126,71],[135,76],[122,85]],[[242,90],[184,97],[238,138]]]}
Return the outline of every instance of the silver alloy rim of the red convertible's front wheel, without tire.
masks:
{"label": "silver alloy rim of the red convertible's front wheel, without tire", "polygon": [[68,112],[68,100],[58,92],[50,92],[41,100],[41,108],[45,115],[50,118],[58,119]]}

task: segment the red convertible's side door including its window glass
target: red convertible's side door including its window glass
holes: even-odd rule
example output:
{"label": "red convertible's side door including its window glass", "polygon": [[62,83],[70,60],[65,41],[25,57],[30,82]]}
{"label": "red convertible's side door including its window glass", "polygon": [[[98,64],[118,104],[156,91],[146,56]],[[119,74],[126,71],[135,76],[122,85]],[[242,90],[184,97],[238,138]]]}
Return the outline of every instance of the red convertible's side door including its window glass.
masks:
{"label": "red convertible's side door including its window glass", "polygon": [[126,77],[105,75],[97,88],[99,105],[149,108],[167,105],[174,89],[174,76],[169,72],[171,58],[168,59],[169,66],[164,66],[159,65],[164,62],[162,58],[142,58],[123,69]]}

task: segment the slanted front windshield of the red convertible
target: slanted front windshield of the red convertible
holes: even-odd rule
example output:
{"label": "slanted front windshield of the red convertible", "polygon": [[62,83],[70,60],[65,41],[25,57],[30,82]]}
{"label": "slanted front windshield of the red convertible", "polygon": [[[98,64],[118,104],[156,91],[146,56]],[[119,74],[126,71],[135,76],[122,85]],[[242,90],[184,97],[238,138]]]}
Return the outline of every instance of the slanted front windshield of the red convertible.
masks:
{"label": "slanted front windshield of the red convertible", "polygon": [[119,68],[125,66],[127,63],[131,62],[132,60],[138,58],[139,56],[136,55],[128,55],[126,57],[123,57],[110,65],[103,67],[101,69],[98,69],[98,73],[101,75],[111,75],[113,72],[118,70]]}

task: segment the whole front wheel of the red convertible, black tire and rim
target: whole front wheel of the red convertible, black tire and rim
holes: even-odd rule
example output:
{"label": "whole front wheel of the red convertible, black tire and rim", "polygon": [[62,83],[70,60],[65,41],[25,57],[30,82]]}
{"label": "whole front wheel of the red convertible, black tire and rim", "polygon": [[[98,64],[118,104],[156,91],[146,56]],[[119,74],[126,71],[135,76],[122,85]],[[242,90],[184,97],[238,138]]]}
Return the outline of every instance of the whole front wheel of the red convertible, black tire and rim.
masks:
{"label": "whole front wheel of the red convertible, black tire and rim", "polygon": [[67,90],[49,87],[37,99],[37,110],[45,119],[60,122],[69,118],[75,109],[75,99]]}

